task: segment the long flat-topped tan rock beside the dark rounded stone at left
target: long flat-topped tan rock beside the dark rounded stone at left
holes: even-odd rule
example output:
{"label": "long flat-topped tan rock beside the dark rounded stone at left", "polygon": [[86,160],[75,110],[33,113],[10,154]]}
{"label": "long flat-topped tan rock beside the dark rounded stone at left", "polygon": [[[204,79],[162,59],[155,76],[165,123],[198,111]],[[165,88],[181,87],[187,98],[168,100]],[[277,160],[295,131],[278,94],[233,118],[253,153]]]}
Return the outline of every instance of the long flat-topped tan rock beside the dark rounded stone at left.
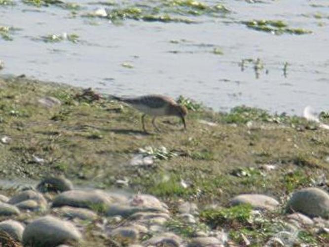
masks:
{"label": "long flat-topped tan rock beside the dark rounded stone at left", "polygon": [[70,190],[59,194],[54,199],[52,206],[75,206],[97,209],[98,207],[103,206],[108,207],[111,202],[112,198],[108,194],[99,190]]}

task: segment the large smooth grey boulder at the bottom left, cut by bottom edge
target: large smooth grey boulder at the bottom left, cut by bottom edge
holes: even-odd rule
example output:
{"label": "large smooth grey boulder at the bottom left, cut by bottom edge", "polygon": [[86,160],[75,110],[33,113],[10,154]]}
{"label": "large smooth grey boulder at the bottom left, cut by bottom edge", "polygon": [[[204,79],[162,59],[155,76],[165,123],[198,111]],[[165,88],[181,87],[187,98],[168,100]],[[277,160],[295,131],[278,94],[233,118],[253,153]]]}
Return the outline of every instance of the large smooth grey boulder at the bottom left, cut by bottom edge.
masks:
{"label": "large smooth grey boulder at the bottom left, cut by bottom edge", "polygon": [[33,247],[56,247],[79,242],[80,232],[70,222],[53,216],[41,217],[28,224],[23,233],[23,245]]}

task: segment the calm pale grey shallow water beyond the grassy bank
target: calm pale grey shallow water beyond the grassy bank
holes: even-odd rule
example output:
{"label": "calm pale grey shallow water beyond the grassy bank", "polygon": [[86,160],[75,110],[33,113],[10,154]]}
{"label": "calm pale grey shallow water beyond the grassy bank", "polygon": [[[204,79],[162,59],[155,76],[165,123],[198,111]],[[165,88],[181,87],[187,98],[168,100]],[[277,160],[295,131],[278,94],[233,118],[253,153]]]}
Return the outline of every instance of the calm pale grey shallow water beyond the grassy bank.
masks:
{"label": "calm pale grey shallow water beyond the grassy bank", "polygon": [[[124,20],[121,25],[81,17],[104,7],[87,4],[95,0],[78,1],[83,9],[75,18],[58,6],[14,2],[0,6],[0,25],[20,29],[11,35],[13,41],[0,39],[0,59],[5,62],[1,74],[25,74],[118,95],[183,94],[224,111],[241,104],[298,115],[306,105],[329,109],[327,0],[209,0],[231,12],[217,18],[191,17],[197,24]],[[240,23],[252,19],[283,20],[313,33],[274,35]],[[62,33],[77,34],[79,42],[38,39]],[[214,54],[216,47],[222,55]],[[249,58],[263,62],[258,78],[254,64],[241,70],[242,59]]]}

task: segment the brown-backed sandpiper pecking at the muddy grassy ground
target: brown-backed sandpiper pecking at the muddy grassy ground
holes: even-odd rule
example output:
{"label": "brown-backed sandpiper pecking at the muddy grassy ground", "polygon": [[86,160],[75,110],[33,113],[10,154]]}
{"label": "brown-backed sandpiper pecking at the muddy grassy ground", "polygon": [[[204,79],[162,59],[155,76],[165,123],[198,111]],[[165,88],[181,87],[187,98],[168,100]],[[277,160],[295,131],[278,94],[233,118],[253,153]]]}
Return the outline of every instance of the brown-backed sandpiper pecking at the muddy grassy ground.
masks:
{"label": "brown-backed sandpiper pecking at the muddy grassy ground", "polygon": [[159,131],[159,128],[155,125],[155,119],[160,116],[177,116],[182,119],[184,129],[186,129],[186,107],[179,105],[174,99],[168,96],[151,94],[136,98],[122,98],[111,95],[110,99],[122,101],[143,112],[142,124],[145,132],[147,132],[144,123],[144,118],[146,115],[153,116],[152,124],[157,131]]}

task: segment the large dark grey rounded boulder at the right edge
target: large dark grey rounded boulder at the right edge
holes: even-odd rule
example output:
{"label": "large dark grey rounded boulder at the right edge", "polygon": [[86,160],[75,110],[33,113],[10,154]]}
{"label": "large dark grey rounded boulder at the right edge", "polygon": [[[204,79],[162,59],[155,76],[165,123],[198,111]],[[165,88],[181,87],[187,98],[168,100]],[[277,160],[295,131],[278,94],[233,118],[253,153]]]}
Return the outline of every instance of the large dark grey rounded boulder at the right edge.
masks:
{"label": "large dark grey rounded boulder at the right edge", "polygon": [[305,188],[292,194],[287,212],[300,212],[310,217],[329,218],[329,194],[318,188]]}

